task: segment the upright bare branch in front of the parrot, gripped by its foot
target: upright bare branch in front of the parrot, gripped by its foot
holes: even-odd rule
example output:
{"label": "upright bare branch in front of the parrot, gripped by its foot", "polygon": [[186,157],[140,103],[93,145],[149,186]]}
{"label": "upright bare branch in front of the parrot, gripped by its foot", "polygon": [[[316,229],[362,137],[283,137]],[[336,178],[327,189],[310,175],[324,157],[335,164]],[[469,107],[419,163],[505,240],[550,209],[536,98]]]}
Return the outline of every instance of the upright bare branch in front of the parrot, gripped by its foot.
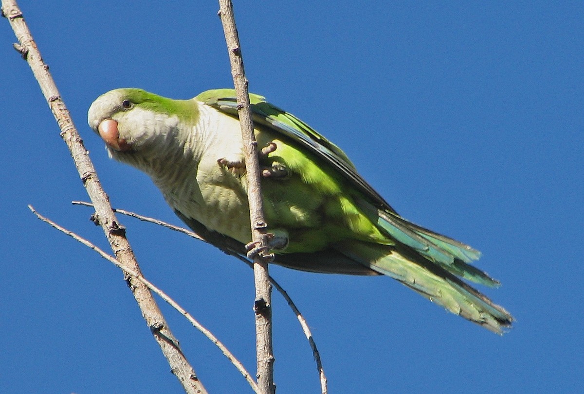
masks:
{"label": "upright bare branch in front of the parrot, gripped by its foot", "polygon": [[[266,221],[263,214],[260,170],[258,163],[258,142],[253,133],[251,111],[249,110],[248,80],[245,78],[244,61],[239,45],[235,17],[231,0],[219,0],[219,16],[223,24],[225,41],[231,63],[231,75],[237,93],[239,122],[244,142],[245,168],[248,181],[249,217],[251,219],[252,242],[268,247],[266,241]],[[275,392],[273,382],[274,356],[272,349],[272,300],[267,261],[261,254],[253,259],[253,276],[256,286],[256,356],[258,360],[258,386],[261,393]]]}

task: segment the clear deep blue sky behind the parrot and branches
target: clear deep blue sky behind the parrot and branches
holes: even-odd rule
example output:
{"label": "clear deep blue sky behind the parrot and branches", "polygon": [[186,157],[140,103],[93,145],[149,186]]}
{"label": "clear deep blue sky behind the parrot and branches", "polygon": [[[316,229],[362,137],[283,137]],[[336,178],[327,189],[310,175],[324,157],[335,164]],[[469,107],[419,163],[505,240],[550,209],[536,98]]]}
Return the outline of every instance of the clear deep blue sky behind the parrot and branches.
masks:
{"label": "clear deep blue sky behind the parrot and branches", "polygon": [[[328,3],[327,3],[328,4]],[[503,337],[384,277],[273,267],[304,312],[334,393],[572,392],[582,386],[582,2],[235,2],[252,92],[336,142],[404,217],[468,242],[515,315]],[[86,125],[116,87],[186,99],[232,86],[217,3],[20,1],[116,207],[180,224]],[[37,220],[107,248],[40,89],[1,20],[0,392],[180,392],[119,270]],[[252,271],[121,218],[152,282],[255,371]],[[274,294],[277,392],[318,392]],[[162,304],[212,393],[251,392]]]}

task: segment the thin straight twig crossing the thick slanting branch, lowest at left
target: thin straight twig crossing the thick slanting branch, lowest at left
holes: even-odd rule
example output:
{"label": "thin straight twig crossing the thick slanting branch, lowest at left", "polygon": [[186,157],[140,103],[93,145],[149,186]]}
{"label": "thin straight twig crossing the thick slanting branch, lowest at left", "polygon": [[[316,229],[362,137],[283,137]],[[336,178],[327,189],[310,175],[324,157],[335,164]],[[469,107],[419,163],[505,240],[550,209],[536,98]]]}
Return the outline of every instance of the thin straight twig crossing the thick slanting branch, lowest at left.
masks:
{"label": "thin straight twig crossing the thick slanting branch, lowest at left", "polygon": [[[74,203],[80,203],[81,205],[92,206],[89,203],[81,202],[81,201],[75,201]],[[237,368],[237,370],[239,372],[241,372],[242,375],[244,375],[244,378],[246,379],[246,381],[248,381],[249,385],[252,386],[253,391],[255,391],[256,393],[258,392],[258,385],[253,380],[251,374],[249,374],[249,372],[245,369],[244,365],[241,364],[241,362],[239,360],[237,360],[237,358],[235,358],[235,356],[231,353],[231,351],[229,351],[229,349],[227,349],[227,347],[225,347],[225,345],[220,340],[218,340],[217,337],[215,337],[213,335],[213,333],[211,333],[208,329],[204,328],[204,326],[201,325],[201,323],[199,323],[195,318],[193,318],[193,316],[191,314],[189,314],[189,312],[187,312],[185,310],[185,308],[181,307],[168,294],[166,294],[164,291],[160,290],[157,286],[152,284],[152,282],[150,282],[148,279],[146,279],[143,275],[126,270],[126,268],[121,266],[120,262],[117,261],[117,259],[114,256],[107,254],[105,251],[103,251],[103,249],[92,244],[92,242],[81,237],[81,235],[76,234],[71,230],[67,230],[67,228],[62,227],[59,224],[55,223],[53,220],[48,219],[46,216],[41,215],[39,212],[37,212],[36,209],[34,209],[34,207],[32,205],[29,205],[29,209],[32,211],[32,213],[34,213],[36,215],[36,217],[38,217],[40,220],[44,221],[45,223],[49,224],[51,227],[56,228],[57,230],[61,231],[61,233],[69,235],[69,237],[73,238],[75,241],[81,242],[81,244],[84,244],[86,247],[97,252],[104,259],[106,259],[107,261],[109,261],[110,263],[115,265],[117,268],[122,269],[128,275],[135,276],[138,279],[140,279],[142,281],[142,283],[144,283],[146,286],[148,286],[148,289],[153,291],[155,294],[158,294],[159,297],[162,298],[162,300],[166,301],[167,304],[171,305],[171,307],[175,308],[176,311],[178,311],[181,315],[185,316],[185,318],[194,326],[194,328],[199,330],[201,333],[203,333],[204,336],[206,336],[211,342],[213,342],[215,344],[215,346],[217,346],[219,348],[219,350],[221,350],[221,352],[225,355],[225,357],[227,357],[229,359],[229,361],[231,361],[231,363],[233,365],[235,365],[235,368]],[[124,214],[127,214],[128,216],[138,217],[138,216],[131,214],[131,212],[126,212]],[[156,221],[156,220],[153,220],[153,221]],[[176,227],[176,226],[172,226],[172,224],[164,223],[161,221],[159,221],[159,222],[160,223],[157,223],[157,224],[159,224],[161,226],[165,226],[165,224],[166,224],[169,227]]]}

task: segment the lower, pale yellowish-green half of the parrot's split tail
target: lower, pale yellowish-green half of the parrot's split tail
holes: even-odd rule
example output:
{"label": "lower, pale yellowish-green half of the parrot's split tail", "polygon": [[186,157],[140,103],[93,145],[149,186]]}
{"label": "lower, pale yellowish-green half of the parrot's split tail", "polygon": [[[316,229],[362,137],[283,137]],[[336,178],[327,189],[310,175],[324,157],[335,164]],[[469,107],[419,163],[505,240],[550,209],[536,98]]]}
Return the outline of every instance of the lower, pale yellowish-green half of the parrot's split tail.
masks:
{"label": "lower, pale yellowish-green half of the parrot's split tail", "polygon": [[[409,247],[345,241],[335,249],[378,273],[405,284],[430,301],[495,333],[502,334],[513,316],[489,298]],[[465,265],[464,262],[461,264]]]}

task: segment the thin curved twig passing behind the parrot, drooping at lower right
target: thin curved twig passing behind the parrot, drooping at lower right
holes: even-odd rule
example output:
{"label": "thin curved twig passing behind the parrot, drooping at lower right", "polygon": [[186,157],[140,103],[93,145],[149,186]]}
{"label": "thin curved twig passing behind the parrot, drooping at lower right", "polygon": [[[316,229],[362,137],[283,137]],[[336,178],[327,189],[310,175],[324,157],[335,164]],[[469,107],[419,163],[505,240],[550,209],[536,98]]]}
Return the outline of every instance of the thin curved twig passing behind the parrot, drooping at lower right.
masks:
{"label": "thin curved twig passing behind the parrot, drooping at lower right", "polygon": [[[91,203],[85,202],[85,201],[72,201],[72,203],[75,205],[93,206]],[[117,213],[124,214],[126,216],[135,217],[136,219],[139,219],[142,221],[147,221],[148,223],[158,224],[158,226],[169,228],[170,230],[173,230],[173,231],[178,231],[179,233],[189,235],[189,237],[193,237],[193,238],[200,240],[200,241],[205,241],[204,238],[201,237],[199,234],[197,234],[194,231],[191,231],[185,227],[175,226],[174,224],[166,223],[165,221],[162,221],[159,219],[154,219],[152,217],[143,216],[141,214],[138,214],[135,212],[130,212],[130,211],[123,210],[123,209],[114,209],[114,211]],[[246,263],[250,268],[253,269],[252,263],[250,263],[244,256],[240,256],[238,254],[235,254],[235,253],[232,253],[229,251],[226,251],[226,253],[237,257],[239,260]],[[269,279],[270,279],[270,283],[272,283],[273,286],[276,287],[276,290],[278,290],[280,292],[280,294],[284,297],[284,299],[286,300],[288,305],[290,305],[290,308],[292,309],[292,311],[296,315],[298,322],[300,322],[300,326],[304,332],[304,335],[308,339],[308,343],[310,344],[310,347],[312,349],[312,355],[314,356],[314,361],[317,363],[317,371],[318,371],[319,380],[321,382],[322,394],[327,394],[328,387],[326,384],[325,371],[324,371],[324,368],[322,368],[321,356],[320,356],[320,353],[318,352],[317,344],[314,342],[314,338],[312,337],[312,332],[310,331],[310,328],[308,328],[308,323],[307,323],[306,319],[301,314],[300,310],[296,307],[296,304],[294,304],[294,301],[292,301],[292,298],[290,298],[290,295],[288,295],[286,290],[284,290],[283,287],[281,287],[280,284],[277,283],[276,280],[273,279],[272,276],[269,276]]]}

